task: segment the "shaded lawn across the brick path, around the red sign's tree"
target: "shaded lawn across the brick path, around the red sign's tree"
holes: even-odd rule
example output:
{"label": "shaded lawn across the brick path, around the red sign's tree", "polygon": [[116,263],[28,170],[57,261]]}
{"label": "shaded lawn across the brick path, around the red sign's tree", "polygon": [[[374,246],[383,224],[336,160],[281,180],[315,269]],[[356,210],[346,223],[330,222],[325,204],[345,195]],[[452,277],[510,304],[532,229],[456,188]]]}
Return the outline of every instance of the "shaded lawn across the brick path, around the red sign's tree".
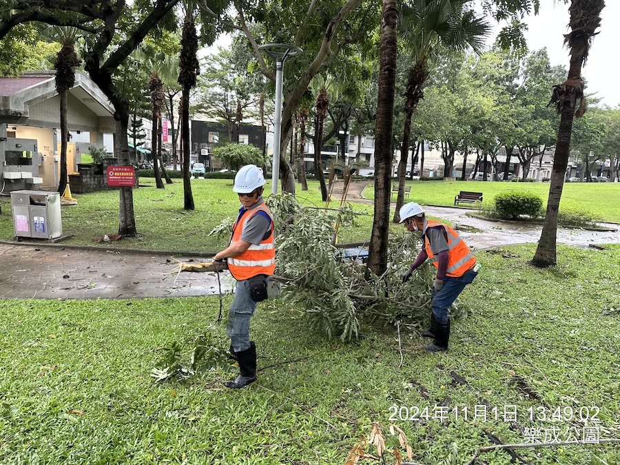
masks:
{"label": "shaded lawn across the brick path, around the red sign's tree", "polygon": [[[228,243],[229,238],[208,236],[211,229],[225,218],[230,223],[237,216],[238,196],[232,192],[232,180],[192,180],[194,211],[183,209],[183,182],[174,180],[165,189],[154,187],[154,178],[141,178],[149,187],[134,189],[134,211],[138,237],[108,243],[101,247],[118,249],[155,249],[165,251],[216,252]],[[318,181],[310,182],[310,189],[302,191],[298,186],[297,198],[304,207],[324,207],[321,201]],[[271,192],[271,183],[265,185],[265,192]],[[118,192],[105,191],[92,194],[74,194],[77,205],[61,207],[63,234],[72,236],[63,243],[73,245],[95,245],[96,238],[118,231]],[[331,207],[337,208],[340,201],[333,200]],[[10,198],[0,198],[0,239],[10,240],[13,236],[13,222]],[[360,213],[355,228],[342,228],[340,242],[367,240],[372,229],[372,205],[353,204]]]}

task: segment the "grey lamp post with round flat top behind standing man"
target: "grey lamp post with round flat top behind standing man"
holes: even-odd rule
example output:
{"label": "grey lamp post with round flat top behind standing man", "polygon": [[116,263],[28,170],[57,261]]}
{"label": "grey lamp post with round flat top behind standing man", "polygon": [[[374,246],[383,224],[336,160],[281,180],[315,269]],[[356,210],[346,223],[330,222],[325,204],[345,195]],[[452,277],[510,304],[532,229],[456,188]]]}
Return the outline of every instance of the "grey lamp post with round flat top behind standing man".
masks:
{"label": "grey lamp post with round flat top behind standing man", "polygon": [[258,50],[265,52],[276,60],[276,115],[273,118],[273,163],[271,165],[271,194],[278,194],[280,180],[280,134],[282,133],[282,81],[284,80],[284,63],[289,56],[303,52],[295,45],[287,43],[266,43]]}

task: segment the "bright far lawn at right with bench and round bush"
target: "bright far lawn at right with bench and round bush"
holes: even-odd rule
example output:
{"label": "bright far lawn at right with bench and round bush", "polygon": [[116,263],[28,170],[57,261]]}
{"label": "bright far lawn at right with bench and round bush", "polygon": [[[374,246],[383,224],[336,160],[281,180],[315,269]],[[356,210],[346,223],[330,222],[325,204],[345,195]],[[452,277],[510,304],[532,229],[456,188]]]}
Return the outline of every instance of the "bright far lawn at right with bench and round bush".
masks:
{"label": "bright far lawn at right with bench and round bush", "polygon": [[[453,207],[454,197],[459,191],[482,192],[485,206],[493,205],[493,198],[500,192],[531,192],[540,196],[546,206],[550,184],[408,180],[406,185],[411,186],[409,200],[412,202]],[[374,191],[373,183],[369,183],[364,189],[364,197],[374,198]],[[562,190],[560,209],[586,211],[599,220],[620,223],[620,183],[566,183]]]}

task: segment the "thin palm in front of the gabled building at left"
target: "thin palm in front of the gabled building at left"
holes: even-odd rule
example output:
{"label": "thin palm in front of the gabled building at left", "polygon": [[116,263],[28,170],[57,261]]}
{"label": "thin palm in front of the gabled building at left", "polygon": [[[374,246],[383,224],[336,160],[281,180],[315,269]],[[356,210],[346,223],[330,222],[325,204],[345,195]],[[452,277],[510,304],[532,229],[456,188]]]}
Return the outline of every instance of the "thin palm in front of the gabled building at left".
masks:
{"label": "thin palm in front of the gabled building at left", "polygon": [[60,97],[60,127],[61,127],[61,160],[58,192],[61,196],[65,193],[68,183],[67,169],[67,145],[69,141],[69,127],[67,124],[67,110],[69,90],[75,84],[75,69],[80,65],[81,59],[75,52],[75,41],[78,30],[76,28],[53,28],[56,37],[61,39],[61,50],[56,56],[56,92]]}

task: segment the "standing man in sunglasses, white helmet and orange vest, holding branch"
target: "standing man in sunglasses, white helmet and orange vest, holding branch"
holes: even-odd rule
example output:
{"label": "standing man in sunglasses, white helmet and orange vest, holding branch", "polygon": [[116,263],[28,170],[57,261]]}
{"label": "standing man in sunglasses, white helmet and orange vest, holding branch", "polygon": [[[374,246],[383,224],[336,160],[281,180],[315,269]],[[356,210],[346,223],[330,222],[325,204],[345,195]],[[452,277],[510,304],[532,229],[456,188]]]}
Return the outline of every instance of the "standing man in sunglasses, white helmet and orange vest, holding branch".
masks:
{"label": "standing man in sunglasses, white helmet and orange vest, holding branch", "polygon": [[249,340],[249,324],[256,302],[267,298],[266,278],[276,269],[273,216],[262,200],[263,185],[262,169],[256,165],[245,165],[238,171],[233,191],[241,202],[239,216],[230,244],[214,257],[215,260],[226,259],[228,269],[237,280],[226,325],[230,352],[239,362],[240,371],[234,380],[224,383],[232,389],[256,381],[256,345]]}

